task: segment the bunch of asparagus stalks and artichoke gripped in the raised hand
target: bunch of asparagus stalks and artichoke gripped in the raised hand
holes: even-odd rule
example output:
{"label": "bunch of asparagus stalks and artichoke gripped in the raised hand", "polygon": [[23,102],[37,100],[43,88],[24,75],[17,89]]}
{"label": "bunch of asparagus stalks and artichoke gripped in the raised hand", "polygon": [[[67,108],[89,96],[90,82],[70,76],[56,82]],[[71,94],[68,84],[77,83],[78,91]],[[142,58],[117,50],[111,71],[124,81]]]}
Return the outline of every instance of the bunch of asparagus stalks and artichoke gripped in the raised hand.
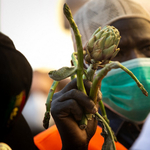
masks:
{"label": "bunch of asparagus stalks and artichoke gripped in the raised hand", "polygon": [[[140,88],[143,94],[148,96],[148,93],[143,85],[130,70],[128,70],[118,61],[111,61],[111,59],[114,58],[119,52],[119,48],[117,47],[121,38],[119,31],[115,27],[106,26],[103,29],[98,28],[93,33],[90,40],[87,42],[85,48],[83,49],[80,32],[72,17],[71,10],[67,4],[64,4],[64,14],[74,32],[77,45],[77,53],[74,52],[72,54],[72,67],[63,67],[59,70],[49,72],[49,76],[54,80],[54,82],[46,101],[46,113],[43,120],[43,125],[45,128],[48,128],[49,124],[51,107],[50,104],[54,91],[58,85],[58,82],[67,77],[71,77],[71,79],[76,77],[78,89],[85,94],[86,90],[83,84],[83,79],[86,78],[87,80],[90,80],[92,82],[92,87],[90,89],[89,97],[96,103],[97,92],[101,90],[102,79],[111,69],[121,68],[126,73],[128,73],[133,78],[133,80],[135,80],[137,86]],[[85,60],[89,64],[87,70],[83,68],[84,50],[86,51]],[[101,66],[102,69],[99,70],[98,74],[94,77],[95,71],[97,70],[98,66]],[[102,115],[96,112],[92,117],[95,117],[102,124],[102,136],[104,136],[104,144],[102,150],[115,150],[116,147],[114,141],[116,141],[116,138],[113,134],[113,131],[111,130],[111,127],[109,126],[109,119],[107,118],[102,100],[99,102],[99,105]],[[83,116],[80,123],[81,129],[86,128],[88,117],[89,115],[87,115],[85,112],[85,115]]]}

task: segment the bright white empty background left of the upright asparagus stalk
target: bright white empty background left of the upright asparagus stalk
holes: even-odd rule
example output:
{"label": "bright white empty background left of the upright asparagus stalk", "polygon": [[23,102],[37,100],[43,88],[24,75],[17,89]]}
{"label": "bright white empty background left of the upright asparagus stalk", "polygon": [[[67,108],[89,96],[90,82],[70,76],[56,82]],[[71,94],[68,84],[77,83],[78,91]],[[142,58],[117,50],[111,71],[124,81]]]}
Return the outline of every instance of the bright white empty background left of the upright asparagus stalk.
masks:
{"label": "bright white empty background left of the upright asparagus stalk", "polygon": [[13,39],[33,69],[70,65],[73,47],[63,26],[63,0],[1,0],[0,6],[0,30]]}

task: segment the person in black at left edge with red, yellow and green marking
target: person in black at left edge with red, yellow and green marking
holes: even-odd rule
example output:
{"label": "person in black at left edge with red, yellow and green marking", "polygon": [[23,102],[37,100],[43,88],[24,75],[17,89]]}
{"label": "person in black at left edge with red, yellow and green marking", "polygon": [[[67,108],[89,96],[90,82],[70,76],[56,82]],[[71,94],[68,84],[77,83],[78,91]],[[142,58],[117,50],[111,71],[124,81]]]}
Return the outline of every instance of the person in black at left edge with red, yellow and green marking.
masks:
{"label": "person in black at left edge with red, yellow and green marking", "polygon": [[37,149],[22,115],[31,87],[32,68],[12,40],[1,32],[0,70],[0,149]]}

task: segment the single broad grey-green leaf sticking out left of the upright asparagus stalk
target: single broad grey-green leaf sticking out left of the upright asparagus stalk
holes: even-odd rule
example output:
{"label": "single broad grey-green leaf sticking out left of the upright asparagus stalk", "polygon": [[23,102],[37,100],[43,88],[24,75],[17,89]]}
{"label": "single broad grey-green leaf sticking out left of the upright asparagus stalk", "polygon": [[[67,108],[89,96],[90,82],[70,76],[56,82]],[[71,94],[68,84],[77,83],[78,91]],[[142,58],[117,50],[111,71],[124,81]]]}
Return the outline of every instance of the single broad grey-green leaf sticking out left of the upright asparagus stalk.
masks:
{"label": "single broad grey-green leaf sticking out left of the upright asparagus stalk", "polygon": [[50,71],[49,76],[56,81],[63,80],[70,77],[76,73],[77,67],[63,67],[58,70]]}

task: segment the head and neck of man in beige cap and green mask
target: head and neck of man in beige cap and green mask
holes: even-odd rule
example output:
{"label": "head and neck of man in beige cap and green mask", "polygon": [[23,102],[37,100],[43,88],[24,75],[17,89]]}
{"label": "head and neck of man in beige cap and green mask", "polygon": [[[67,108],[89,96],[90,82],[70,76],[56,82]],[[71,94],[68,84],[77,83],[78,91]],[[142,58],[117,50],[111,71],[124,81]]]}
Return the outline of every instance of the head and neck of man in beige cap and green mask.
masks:
{"label": "head and neck of man in beige cap and green mask", "polygon": [[[150,90],[150,16],[140,5],[130,0],[91,1],[77,12],[74,19],[82,35],[83,45],[98,26],[116,27],[121,35],[118,46],[120,52],[113,61],[123,62]],[[110,126],[118,141],[129,148],[150,111],[149,98],[140,93],[136,83],[122,70],[112,70],[102,81],[101,90]],[[142,104],[141,99],[144,99]]]}

